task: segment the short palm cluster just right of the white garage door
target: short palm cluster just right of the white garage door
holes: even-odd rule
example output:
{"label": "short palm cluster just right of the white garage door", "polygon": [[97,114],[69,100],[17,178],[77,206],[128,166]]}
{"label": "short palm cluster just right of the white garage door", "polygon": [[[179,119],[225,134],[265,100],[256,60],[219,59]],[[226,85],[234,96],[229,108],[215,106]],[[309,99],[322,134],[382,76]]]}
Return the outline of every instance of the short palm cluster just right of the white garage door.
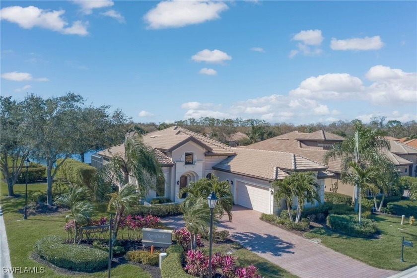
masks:
{"label": "short palm cluster just right of the white garage door", "polygon": [[278,206],[280,206],[281,199],[285,199],[285,204],[291,221],[294,221],[291,215],[292,200],[293,198],[297,198],[297,214],[295,216],[295,223],[298,223],[301,219],[301,212],[304,208],[305,202],[321,202],[318,194],[320,187],[317,184],[315,176],[312,172],[294,172],[290,176],[285,177],[283,180],[275,181],[273,186],[275,187],[275,201]]}

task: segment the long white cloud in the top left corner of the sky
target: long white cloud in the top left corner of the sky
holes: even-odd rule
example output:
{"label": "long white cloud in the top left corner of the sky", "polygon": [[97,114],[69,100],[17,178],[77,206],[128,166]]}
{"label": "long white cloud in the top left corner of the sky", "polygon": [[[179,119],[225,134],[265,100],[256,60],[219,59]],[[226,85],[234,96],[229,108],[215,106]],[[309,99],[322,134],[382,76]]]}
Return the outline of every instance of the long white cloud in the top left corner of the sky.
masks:
{"label": "long white cloud in the top left corner of the sky", "polygon": [[62,34],[81,35],[88,34],[88,22],[74,21],[71,26],[62,17],[65,10],[48,11],[35,6],[21,7],[10,6],[0,10],[1,20],[7,20],[18,24],[24,29],[40,27]]}

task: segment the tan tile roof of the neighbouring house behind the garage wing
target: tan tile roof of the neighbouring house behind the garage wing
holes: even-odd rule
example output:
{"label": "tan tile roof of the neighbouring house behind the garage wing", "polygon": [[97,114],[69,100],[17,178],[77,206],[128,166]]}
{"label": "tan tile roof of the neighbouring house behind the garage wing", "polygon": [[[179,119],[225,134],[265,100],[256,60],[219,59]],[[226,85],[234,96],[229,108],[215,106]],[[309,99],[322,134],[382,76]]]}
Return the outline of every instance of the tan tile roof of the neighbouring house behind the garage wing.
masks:
{"label": "tan tile roof of the neighbouring house behind the garage wing", "polygon": [[[293,131],[290,133],[280,135],[278,137],[274,137],[271,139],[267,139],[258,143],[245,146],[245,148],[292,152],[292,153],[295,153],[304,157],[308,157],[309,159],[317,161],[319,163],[323,163],[323,160],[324,160],[323,156],[327,150],[324,150],[322,148],[318,149],[317,147],[302,148],[301,147],[302,142],[298,140],[300,137],[300,134],[305,135],[305,133]],[[329,161],[328,166],[329,166],[329,169],[328,169],[329,171],[332,171],[332,172],[342,171],[340,159]]]}

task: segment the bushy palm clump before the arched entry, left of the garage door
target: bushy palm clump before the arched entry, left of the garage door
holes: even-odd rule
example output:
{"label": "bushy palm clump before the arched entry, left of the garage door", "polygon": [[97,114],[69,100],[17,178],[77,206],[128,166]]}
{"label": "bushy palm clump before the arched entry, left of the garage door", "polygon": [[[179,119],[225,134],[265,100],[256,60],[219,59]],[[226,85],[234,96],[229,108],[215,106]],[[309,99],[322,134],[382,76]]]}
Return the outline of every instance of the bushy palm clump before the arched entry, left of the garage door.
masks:
{"label": "bushy palm clump before the arched entry, left of the garage door", "polygon": [[[191,204],[193,204],[196,203],[199,198],[207,198],[211,191],[213,191],[218,198],[213,213],[221,218],[224,212],[226,212],[229,221],[232,221],[233,194],[230,191],[229,183],[226,181],[219,181],[218,177],[212,176],[211,179],[203,178],[196,182],[191,182],[189,186],[180,190],[178,196],[182,196],[186,193],[187,197],[184,201],[189,200]],[[209,205],[206,205],[207,209],[209,209]],[[184,206],[182,209],[185,212]]]}

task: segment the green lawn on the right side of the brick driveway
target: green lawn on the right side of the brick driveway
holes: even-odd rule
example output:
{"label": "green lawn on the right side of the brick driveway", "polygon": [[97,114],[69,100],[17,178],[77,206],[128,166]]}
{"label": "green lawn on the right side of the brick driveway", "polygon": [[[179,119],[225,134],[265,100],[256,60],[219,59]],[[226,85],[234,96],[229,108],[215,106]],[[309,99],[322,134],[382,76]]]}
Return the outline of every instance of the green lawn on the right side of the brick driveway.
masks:
{"label": "green lawn on the right side of the brick driveway", "polygon": [[[373,215],[372,219],[381,231],[378,239],[345,236],[325,228],[315,228],[304,236],[319,238],[324,246],[376,268],[403,271],[416,266],[417,225],[408,221],[401,225],[401,217]],[[414,242],[413,248],[404,247],[405,262],[400,262],[402,236]]]}

